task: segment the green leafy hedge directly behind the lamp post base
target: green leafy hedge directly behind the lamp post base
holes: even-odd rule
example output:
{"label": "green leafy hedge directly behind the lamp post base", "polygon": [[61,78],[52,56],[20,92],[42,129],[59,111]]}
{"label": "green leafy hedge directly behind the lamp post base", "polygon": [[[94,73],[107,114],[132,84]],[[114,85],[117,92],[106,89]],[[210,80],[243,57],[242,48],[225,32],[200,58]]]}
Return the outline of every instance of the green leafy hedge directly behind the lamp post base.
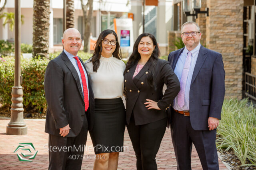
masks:
{"label": "green leafy hedge directly behind the lamp post base", "polygon": [[[0,103],[11,107],[11,92],[14,86],[14,58],[4,57],[0,60]],[[48,59],[21,59],[23,87],[23,105],[25,111],[43,111],[46,109],[44,98],[44,71]]]}

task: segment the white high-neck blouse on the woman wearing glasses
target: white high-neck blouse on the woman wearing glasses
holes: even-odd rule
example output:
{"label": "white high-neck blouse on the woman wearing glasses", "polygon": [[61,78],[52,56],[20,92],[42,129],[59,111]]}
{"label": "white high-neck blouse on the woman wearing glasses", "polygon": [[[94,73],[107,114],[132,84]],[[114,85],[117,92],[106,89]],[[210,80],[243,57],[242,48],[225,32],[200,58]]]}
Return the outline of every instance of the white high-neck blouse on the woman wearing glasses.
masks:
{"label": "white high-neck blouse on the woman wearing glasses", "polygon": [[116,57],[100,57],[100,66],[97,72],[93,71],[91,61],[85,63],[88,75],[92,80],[92,90],[95,99],[122,98],[124,91],[125,64]]}

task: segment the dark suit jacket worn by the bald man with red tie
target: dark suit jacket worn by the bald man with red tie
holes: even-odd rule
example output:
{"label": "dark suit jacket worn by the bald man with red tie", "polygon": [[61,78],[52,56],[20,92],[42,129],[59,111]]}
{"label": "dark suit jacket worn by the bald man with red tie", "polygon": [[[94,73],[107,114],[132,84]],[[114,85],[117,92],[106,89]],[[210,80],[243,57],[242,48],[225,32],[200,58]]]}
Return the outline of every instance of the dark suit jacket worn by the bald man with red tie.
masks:
{"label": "dark suit jacket worn by the bald man with red tie", "polygon": [[[81,59],[80,61],[84,66]],[[84,69],[86,70],[85,66]],[[94,94],[89,76],[88,88],[90,97],[89,109],[87,111],[88,114],[85,115],[84,97],[79,76],[68,56],[62,51],[58,57],[48,63],[44,75],[44,91],[48,105],[45,125],[46,133],[60,136],[59,128],[69,124],[71,129],[67,137],[77,136],[82,129],[84,116],[88,120],[88,129],[92,129]]]}

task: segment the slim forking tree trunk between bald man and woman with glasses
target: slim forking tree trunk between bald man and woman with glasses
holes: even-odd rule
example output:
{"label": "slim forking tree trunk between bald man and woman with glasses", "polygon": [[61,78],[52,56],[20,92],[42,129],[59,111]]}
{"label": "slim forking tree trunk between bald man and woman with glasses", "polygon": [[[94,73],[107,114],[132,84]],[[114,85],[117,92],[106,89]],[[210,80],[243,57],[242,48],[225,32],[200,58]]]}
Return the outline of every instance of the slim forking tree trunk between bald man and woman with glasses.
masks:
{"label": "slim forking tree trunk between bald man and woman with glasses", "polygon": [[[92,25],[92,12],[93,12],[93,0],[88,0],[87,4],[84,5],[83,0],[81,0],[82,10],[83,10],[83,22],[84,22],[84,52],[90,53],[90,34]],[[89,10],[88,10],[89,8]],[[87,12],[88,10],[88,12]]]}

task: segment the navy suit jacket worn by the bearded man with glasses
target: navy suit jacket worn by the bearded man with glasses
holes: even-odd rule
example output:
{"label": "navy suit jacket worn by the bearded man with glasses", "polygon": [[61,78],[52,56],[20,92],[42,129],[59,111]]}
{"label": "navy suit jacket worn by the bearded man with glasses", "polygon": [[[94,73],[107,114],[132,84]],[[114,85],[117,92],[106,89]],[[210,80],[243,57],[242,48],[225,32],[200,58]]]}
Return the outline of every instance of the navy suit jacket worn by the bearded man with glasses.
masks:
{"label": "navy suit jacket worn by the bearded man with glasses", "polygon": [[[182,49],[173,51],[168,61],[175,69]],[[201,45],[189,93],[190,122],[194,130],[209,130],[208,118],[220,119],[225,95],[225,71],[222,55]]]}

